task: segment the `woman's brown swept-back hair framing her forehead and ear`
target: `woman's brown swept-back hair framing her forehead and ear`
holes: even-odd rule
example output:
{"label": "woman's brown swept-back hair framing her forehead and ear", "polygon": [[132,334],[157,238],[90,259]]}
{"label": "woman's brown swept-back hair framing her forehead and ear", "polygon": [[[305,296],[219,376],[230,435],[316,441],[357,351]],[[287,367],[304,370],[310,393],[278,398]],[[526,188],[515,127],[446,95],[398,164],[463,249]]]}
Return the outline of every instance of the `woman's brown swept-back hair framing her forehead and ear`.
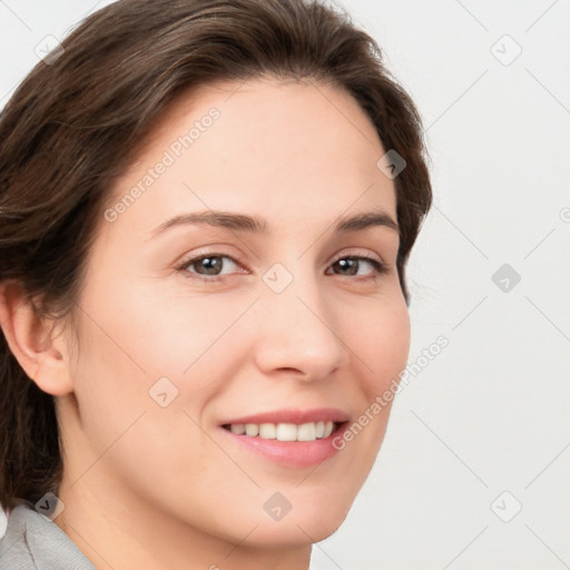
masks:
{"label": "woman's brown swept-back hair framing her forehead and ear", "polygon": [[[75,29],[0,116],[0,282],[21,284],[42,317],[72,315],[108,189],[154,121],[193,87],[265,75],[345,89],[404,158],[394,183],[409,304],[405,264],[432,200],[420,116],[375,41],[308,0],[120,0]],[[53,397],[0,335],[0,503],[57,493],[61,473]]]}

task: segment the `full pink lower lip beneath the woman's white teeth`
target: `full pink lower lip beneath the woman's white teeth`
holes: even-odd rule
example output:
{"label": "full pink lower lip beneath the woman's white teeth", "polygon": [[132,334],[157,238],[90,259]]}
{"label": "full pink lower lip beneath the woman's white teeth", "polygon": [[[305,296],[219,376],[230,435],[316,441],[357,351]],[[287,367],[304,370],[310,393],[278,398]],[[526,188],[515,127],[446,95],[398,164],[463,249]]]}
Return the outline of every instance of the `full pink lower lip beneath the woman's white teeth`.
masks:
{"label": "full pink lower lip beneath the woman's white teeth", "polygon": [[220,430],[226,436],[232,438],[238,445],[258,453],[259,455],[278,463],[284,466],[303,469],[312,468],[323,463],[327,459],[333,458],[340,450],[334,448],[333,441],[342,436],[346,430],[347,422],[338,425],[338,428],[328,436],[315,441],[278,441],[264,440],[256,435],[237,435],[225,428]]}

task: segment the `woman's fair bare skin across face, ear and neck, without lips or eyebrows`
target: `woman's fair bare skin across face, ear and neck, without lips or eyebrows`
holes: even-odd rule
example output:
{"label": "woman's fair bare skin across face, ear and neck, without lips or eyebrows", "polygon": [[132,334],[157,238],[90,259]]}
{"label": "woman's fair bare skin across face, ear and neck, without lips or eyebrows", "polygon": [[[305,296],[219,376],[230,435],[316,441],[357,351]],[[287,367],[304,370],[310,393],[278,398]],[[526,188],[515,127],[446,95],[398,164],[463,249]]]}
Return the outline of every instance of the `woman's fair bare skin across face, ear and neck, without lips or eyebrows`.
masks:
{"label": "woman's fair bare skin across face, ear and neck, without lips or eyebrows", "polygon": [[[78,346],[70,327],[51,331],[4,288],[10,347],[56,396],[65,510],[55,522],[98,569],[308,568],[311,544],[340,527],[367,476],[390,407],[316,469],[228,443],[219,423],[283,407],[338,407],[355,421],[407,358],[397,233],[332,232],[360,212],[396,220],[394,183],[376,167],[385,150],[343,90],[265,78],[185,95],[116,181],[115,204],[212,107],[213,126],[115,222],[101,220]],[[264,217],[271,234],[194,225],[150,238],[170,217],[208,208]],[[235,259],[218,259],[222,282],[188,276],[200,276],[198,264],[175,268],[204,253]],[[341,255],[387,272],[374,279],[363,261],[343,273]],[[293,277],[281,293],[262,279],[275,263]],[[148,394],[161,376],[178,390],[167,407]],[[293,507],[279,521],[264,510],[277,491]]]}

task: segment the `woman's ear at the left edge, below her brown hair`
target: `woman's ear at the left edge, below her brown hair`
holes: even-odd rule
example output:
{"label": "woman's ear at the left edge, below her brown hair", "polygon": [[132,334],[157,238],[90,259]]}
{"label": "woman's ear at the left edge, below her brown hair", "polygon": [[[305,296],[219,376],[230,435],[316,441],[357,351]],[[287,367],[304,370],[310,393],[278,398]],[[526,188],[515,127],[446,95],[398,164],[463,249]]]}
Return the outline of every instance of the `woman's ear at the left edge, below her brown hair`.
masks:
{"label": "woman's ear at the left edge, below her brown hair", "polygon": [[16,282],[0,283],[0,325],[10,351],[40,390],[55,396],[72,392],[63,338],[52,337],[53,323],[40,318]]}

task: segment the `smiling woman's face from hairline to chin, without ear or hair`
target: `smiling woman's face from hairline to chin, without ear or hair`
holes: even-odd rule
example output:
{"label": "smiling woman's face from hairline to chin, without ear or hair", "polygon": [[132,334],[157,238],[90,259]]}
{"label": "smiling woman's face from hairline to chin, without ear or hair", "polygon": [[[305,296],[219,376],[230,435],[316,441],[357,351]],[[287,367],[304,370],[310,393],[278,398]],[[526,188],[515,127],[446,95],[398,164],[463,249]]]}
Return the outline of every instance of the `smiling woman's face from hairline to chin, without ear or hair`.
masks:
{"label": "smiling woman's face from hairline to chin, without ear or hair", "polygon": [[[67,483],[108,512],[235,543],[337,529],[384,436],[390,404],[374,403],[409,352],[386,150],[325,85],[203,87],[168,110],[88,259],[77,407],[58,402]],[[380,223],[336,227],[358,214]]]}

